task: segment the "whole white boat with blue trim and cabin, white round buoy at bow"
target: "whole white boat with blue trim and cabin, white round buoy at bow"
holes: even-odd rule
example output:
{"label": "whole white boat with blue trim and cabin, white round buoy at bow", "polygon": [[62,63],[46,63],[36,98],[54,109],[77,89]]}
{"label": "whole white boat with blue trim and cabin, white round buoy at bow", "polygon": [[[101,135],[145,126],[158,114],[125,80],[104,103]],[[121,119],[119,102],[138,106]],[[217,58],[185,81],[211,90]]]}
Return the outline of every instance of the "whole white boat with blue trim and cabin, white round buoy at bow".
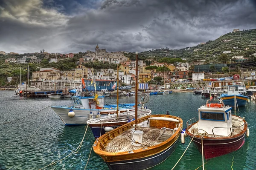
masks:
{"label": "whole white boat with blue trim and cabin, white round buoy at bow", "polygon": [[[104,104],[104,96],[99,96],[96,100],[94,96],[73,96],[72,106],[52,106],[66,126],[86,124],[89,118],[96,118],[97,115],[107,116],[116,112],[116,104]],[[134,103],[119,104],[119,111],[126,112],[134,110]],[[141,105],[138,105],[141,109]]]}

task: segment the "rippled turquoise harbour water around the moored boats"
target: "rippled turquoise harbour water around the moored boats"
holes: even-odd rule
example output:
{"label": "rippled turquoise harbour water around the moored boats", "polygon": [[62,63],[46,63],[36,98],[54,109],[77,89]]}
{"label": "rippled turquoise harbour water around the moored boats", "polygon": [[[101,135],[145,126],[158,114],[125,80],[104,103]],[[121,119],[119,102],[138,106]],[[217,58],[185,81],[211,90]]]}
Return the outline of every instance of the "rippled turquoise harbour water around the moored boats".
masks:
{"label": "rippled turquoise harbour water around the moored boats", "polygon": [[[134,102],[134,96],[122,97],[120,103]],[[108,104],[114,104],[116,98],[105,98]],[[173,93],[150,96],[146,104],[153,114],[170,114],[183,119],[183,128],[186,121],[198,117],[197,109],[205,104],[206,99],[192,93]],[[50,105],[71,105],[70,99],[50,100],[22,98],[12,91],[0,91],[0,124],[5,121],[22,118]],[[237,115],[245,117],[250,128],[250,136],[244,146],[236,152],[218,158],[212,158],[204,165],[205,170],[254,170],[256,169],[256,102],[252,101],[246,107],[239,108]],[[64,158],[79,146],[84,135],[84,127],[65,127],[61,119],[49,108],[31,115],[21,121],[0,125],[0,170],[38,170],[46,165]],[[234,112],[233,112],[234,113]],[[47,115],[47,117],[46,117]],[[46,119],[45,119],[46,117]],[[42,122],[44,124],[41,126]],[[36,131],[38,132],[28,138]],[[95,138],[88,129],[83,145],[78,153],[69,156],[47,170],[83,170]],[[179,144],[175,152],[162,164],[152,168],[154,170],[169,170],[176,164],[190,142],[186,138],[184,145]],[[175,170],[202,170],[201,154],[192,143],[180,160]],[[102,158],[91,153],[87,169],[105,170],[107,165]]]}

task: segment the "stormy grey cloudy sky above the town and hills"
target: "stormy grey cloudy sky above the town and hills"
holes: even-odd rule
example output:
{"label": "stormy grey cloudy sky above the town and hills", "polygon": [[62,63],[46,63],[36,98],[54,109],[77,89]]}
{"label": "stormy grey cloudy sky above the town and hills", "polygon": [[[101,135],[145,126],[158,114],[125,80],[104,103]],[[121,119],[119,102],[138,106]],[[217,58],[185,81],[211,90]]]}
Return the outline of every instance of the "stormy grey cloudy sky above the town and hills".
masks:
{"label": "stormy grey cloudy sky above the town and hills", "polygon": [[0,51],[180,49],[256,29],[255,0],[0,0]]}

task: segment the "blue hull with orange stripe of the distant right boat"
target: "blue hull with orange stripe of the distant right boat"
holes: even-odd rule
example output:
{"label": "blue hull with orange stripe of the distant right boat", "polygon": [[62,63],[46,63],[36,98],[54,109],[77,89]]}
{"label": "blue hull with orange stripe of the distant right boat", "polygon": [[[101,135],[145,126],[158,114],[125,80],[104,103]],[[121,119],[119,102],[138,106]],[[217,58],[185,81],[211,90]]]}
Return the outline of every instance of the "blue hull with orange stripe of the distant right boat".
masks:
{"label": "blue hull with orange stripe of the distant right boat", "polygon": [[[221,95],[221,99],[224,102],[224,104],[227,106],[234,106],[235,105],[235,95],[227,95],[223,94]],[[243,95],[236,95],[236,101],[237,101],[237,106],[245,106],[247,103],[248,97],[243,96]]]}

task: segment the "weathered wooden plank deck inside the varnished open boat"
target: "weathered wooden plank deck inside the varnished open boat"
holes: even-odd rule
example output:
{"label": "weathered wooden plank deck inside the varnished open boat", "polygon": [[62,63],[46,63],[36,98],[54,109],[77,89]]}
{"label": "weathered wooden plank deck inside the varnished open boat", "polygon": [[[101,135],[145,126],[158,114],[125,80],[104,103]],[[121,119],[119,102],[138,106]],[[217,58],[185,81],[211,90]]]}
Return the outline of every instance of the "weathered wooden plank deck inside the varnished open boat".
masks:
{"label": "weathered wooden plank deck inside the varnished open boat", "polygon": [[105,151],[118,153],[128,152],[132,150],[141,149],[143,147],[151,147],[165,141],[167,138],[173,135],[174,130],[162,130],[160,136],[160,129],[152,127],[140,127],[138,130],[143,131],[143,145],[132,146],[131,145],[131,129],[125,130],[122,134],[118,135],[115,140],[110,140],[105,147]]}

